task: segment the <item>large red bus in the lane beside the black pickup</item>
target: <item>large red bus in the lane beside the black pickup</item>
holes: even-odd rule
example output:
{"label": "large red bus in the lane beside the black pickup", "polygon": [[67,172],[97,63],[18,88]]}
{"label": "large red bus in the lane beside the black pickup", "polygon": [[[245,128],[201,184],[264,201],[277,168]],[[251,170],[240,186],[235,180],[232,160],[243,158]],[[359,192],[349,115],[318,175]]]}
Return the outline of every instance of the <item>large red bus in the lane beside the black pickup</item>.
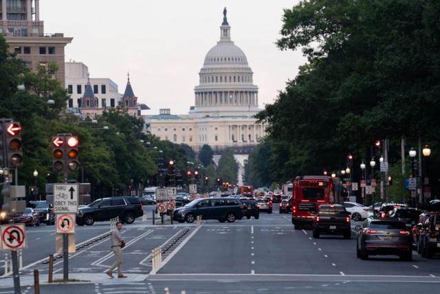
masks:
{"label": "large red bus in the lane beside the black pickup", "polygon": [[329,176],[297,176],[292,193],[292,224],[300,229],[311,225],[321,204],[335,202],[335,185]]}

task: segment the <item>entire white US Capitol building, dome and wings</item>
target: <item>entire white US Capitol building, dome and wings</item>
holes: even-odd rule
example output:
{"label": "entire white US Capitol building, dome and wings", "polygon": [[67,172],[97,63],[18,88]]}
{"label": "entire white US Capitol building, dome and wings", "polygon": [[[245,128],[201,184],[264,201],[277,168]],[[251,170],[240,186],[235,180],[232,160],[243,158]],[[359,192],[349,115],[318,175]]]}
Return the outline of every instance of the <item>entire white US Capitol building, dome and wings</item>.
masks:
{"label": "entire white US Capitol building, dome and wings", "polygon": [[144,116],[148,132],[161,140],[190,145],[198,150],[207,144],[220,151],[232,147],[236,154],[248,154],[265,134],[256,124],[259,112],[258,87],[248,59],[230,37],[230,25],[223,10],[220,41],[206,54],[195,87],[195,106],[189,114],[173,115],[160,109]]}

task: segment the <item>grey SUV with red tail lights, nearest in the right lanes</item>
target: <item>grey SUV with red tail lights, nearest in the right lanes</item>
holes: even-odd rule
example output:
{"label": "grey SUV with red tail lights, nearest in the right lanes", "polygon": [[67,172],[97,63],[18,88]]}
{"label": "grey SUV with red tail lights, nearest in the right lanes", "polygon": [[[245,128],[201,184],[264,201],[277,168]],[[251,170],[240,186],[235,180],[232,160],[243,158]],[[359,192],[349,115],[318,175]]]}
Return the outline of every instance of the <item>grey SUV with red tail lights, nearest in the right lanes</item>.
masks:
{"label": "grey SUV with red tail lights, nearest in the right lanes", "polygon": [[367,260],[370,255],[398,255],[412,260],[412,237],[406,224],[393,218],[367,218],[358,224],[356,256]]}

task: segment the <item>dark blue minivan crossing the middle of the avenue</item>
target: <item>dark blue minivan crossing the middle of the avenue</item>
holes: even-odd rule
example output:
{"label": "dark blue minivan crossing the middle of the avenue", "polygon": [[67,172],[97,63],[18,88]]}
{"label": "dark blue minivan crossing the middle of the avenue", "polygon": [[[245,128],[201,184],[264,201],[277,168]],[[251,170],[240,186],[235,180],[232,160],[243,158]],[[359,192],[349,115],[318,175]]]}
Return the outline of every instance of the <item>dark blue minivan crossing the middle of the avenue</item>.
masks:
{"label": "dark blue minivan crossing the middle of the avenue", "polygon": [[237,198],[202,198],[173,211],[173,220],[177,222],[194,222],[198,216],[202,220],[234,222],[243,218],[243,204]]}

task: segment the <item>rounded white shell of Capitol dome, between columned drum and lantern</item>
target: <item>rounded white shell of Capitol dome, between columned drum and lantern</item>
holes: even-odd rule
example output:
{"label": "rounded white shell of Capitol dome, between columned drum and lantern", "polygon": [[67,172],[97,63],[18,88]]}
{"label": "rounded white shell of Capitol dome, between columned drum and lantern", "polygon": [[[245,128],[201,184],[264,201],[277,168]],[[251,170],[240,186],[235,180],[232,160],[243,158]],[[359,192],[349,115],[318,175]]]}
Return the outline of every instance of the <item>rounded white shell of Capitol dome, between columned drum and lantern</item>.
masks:
{"label": "rounded white shell of Capitol dome, between columned drum and lantern", "polygon": [[220,41],[206,54],[203,65],[240,64],[248,65],[245,53],[232,41]]}

